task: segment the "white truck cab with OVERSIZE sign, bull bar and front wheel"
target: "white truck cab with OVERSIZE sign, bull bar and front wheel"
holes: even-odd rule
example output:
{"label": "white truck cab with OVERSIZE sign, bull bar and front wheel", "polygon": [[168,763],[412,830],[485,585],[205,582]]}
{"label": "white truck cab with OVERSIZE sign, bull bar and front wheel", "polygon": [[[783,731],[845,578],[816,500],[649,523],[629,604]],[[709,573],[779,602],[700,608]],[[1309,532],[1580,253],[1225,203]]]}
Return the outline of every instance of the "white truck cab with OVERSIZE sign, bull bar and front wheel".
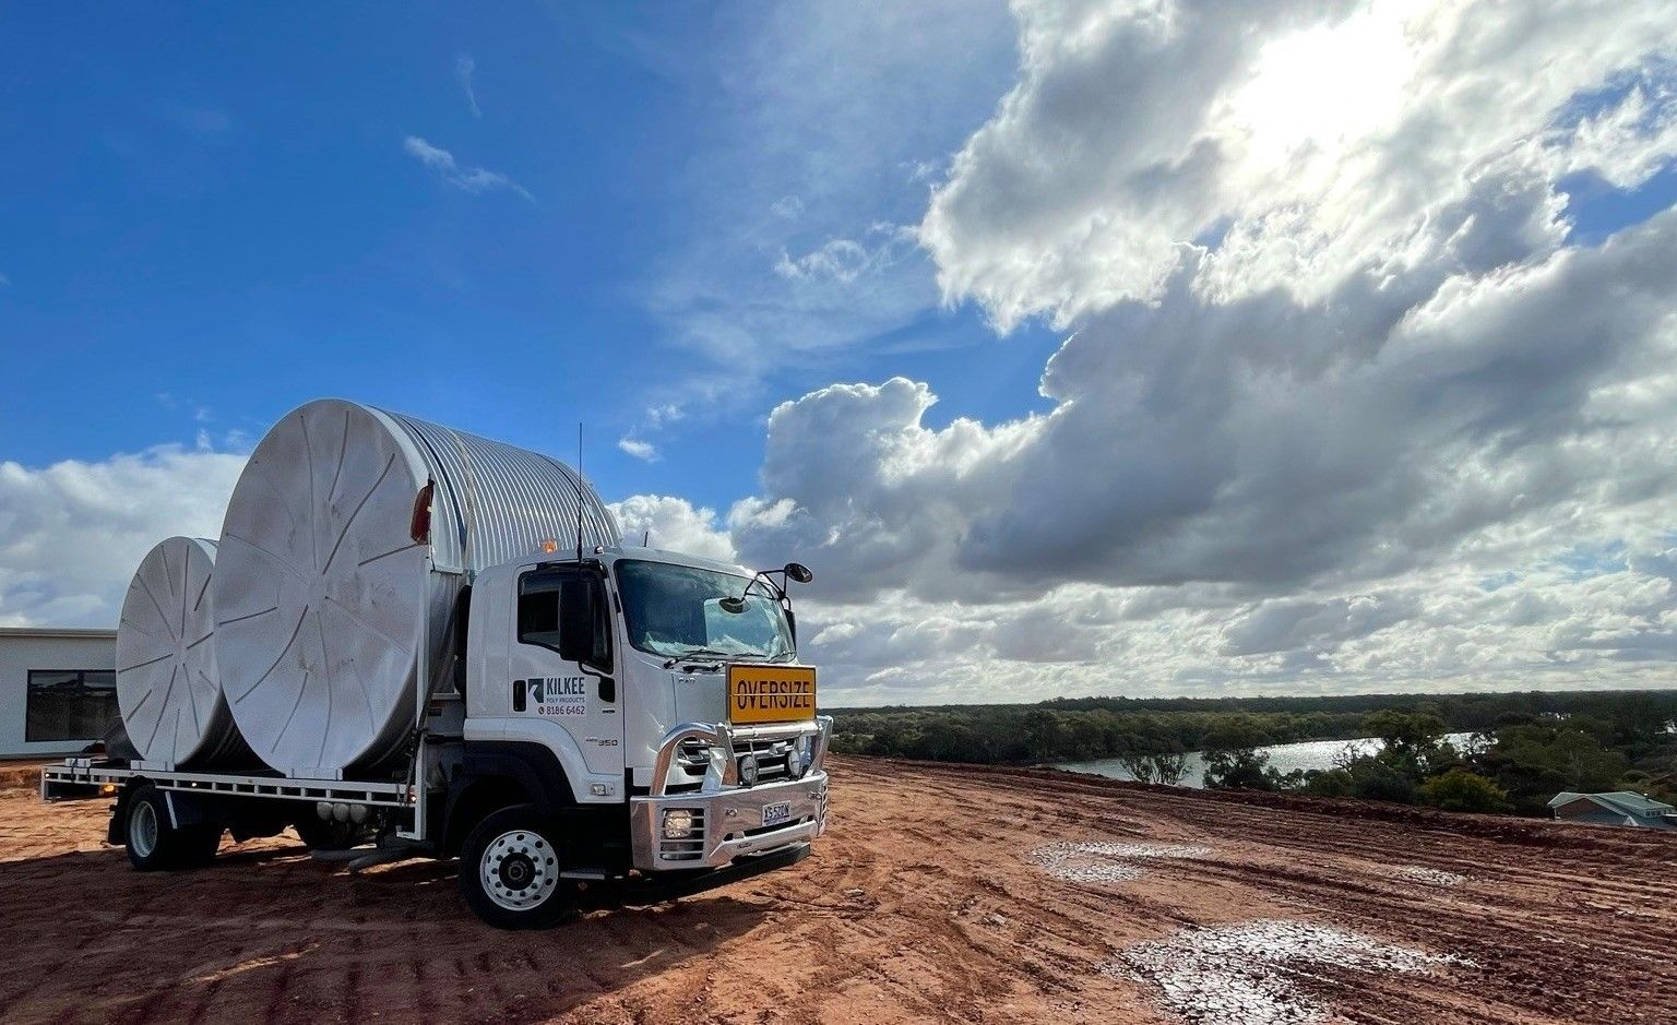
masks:
{"label": "white truck cab with OVERSIZE sign, bull bar and front wheel", "polygon": [[808,854],[832,726],[788,580],[808,570],[615,547],[476,574],[458,745],[433,723],[426,775],[480,916],[543,924],[590,886],[691,892]]}

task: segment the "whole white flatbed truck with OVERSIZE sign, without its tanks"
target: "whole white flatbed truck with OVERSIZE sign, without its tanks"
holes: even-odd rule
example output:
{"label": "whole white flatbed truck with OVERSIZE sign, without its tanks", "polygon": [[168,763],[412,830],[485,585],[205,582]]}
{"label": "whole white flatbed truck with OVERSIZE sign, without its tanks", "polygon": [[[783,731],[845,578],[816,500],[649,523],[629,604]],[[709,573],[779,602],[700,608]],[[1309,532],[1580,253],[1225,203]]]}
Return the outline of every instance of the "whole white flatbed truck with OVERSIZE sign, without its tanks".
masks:
{"label": "whole white flatbed truck with OVERSIZE sign, without its tanks", "polygon": [[352,867],[458,857],[466,903],[500,928],[699,892],[792,866],[827,829],[832,720],[787,594],[808,579],[617,547],[495,565],[461,592],[448,664],[421,659],[399,768],[79,757],[44,768],[40,795],[114,799],[107,840],[141,871],[287,827]]}

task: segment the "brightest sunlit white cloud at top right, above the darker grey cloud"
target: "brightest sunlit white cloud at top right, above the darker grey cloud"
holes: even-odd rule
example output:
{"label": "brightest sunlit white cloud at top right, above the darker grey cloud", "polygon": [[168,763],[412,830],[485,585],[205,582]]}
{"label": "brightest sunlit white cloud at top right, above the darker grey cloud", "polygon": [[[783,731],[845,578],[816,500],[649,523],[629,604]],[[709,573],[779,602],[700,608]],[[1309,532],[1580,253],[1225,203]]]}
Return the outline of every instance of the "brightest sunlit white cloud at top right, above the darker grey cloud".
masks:
{"label": "brightest sunlit white cloud at top right, above the darker grey cloud", "polygon": [[[1518,195],[1605,153],[1546,129],[1672,52],[1677,32],[1660,3],[1016,10],[1020,82],[921,225],[944,294],[1001,329],[1159,300],[1218,237],[1196,273],[1218,299],[1320,300],[1353,275],[1436,262],[1481,213],[1476,193]],[[1558,242],[1533,226],[1523,248]]]}

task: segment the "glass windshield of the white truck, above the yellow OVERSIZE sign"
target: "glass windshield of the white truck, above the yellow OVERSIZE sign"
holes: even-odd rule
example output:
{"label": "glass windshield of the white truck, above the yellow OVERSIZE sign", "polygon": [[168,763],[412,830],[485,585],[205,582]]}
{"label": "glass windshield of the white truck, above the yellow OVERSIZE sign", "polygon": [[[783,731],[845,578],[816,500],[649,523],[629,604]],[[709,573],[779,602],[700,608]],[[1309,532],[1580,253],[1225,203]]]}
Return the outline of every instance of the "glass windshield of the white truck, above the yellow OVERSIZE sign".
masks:
{"label": "glass windshield of the white truck, above the yellow OVERSIZE sign", "polygon": [[[691,565],[626,560],[617,564],[629,643],[651,654],[778,658],[792,653],[792,629],[770,589]],[[728,612],[724,597],[745,596],[745,611]]]}

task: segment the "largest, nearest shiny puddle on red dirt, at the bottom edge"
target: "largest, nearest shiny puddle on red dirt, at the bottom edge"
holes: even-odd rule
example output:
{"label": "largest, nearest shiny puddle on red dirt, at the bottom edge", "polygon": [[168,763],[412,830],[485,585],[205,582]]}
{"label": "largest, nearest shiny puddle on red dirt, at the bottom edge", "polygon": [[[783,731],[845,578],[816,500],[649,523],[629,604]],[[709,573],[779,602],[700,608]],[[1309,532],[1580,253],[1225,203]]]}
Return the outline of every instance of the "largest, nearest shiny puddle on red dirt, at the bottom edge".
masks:
{"label": "largest, nearest shiny puddle on red dirt, at the bottom edge", "polygon": [[1310,1025],[1332,1015],[1296,990],[1298,975],[1318,968],[1415,973],[1447,963],[1459,960],[1348,929],[1259,919],[1139,943],[1103,970],[1157,986],[1167,1010],[1197,1025]]}

